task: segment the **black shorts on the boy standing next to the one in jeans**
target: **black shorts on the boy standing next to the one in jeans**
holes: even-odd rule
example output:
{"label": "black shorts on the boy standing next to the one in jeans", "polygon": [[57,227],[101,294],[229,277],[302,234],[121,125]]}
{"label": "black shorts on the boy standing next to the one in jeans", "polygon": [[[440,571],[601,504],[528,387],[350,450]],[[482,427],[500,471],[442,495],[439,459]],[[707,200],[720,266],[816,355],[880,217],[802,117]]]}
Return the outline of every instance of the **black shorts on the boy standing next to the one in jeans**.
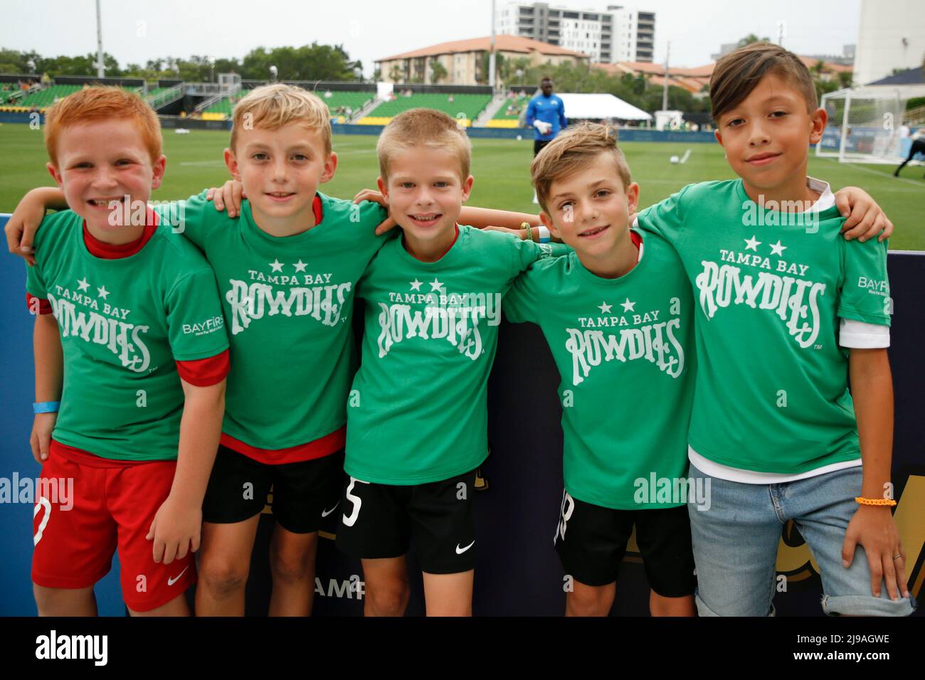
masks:
{"label": "black shorts on the boy standing next to the one in jeans", "polygon": [[697,577],[685,505],[613,510],[563,493],[553,540],[565,573],[586,586],[616,581],[633,525],[649,586],[665,598],[693,595]]}

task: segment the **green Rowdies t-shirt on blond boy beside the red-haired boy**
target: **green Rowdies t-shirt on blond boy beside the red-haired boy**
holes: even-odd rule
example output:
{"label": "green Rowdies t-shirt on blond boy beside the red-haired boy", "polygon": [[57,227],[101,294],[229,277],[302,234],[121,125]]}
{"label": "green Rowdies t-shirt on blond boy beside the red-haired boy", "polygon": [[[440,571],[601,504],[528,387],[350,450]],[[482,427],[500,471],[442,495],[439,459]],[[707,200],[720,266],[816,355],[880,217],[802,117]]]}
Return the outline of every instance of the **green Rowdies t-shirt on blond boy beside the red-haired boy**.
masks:
{"label": "green Rowdies t-shirt on blond boy beside the red-haired boy", "polygon": [[299,446],[347,420],[353,293],[388,239],[375,234],[386,211],[318,197],[321,222],[287,237],[259,229],[248,201],[235,218],[205,192],[158,208],[216,271],[231,344],[222,431],[260,449]]}

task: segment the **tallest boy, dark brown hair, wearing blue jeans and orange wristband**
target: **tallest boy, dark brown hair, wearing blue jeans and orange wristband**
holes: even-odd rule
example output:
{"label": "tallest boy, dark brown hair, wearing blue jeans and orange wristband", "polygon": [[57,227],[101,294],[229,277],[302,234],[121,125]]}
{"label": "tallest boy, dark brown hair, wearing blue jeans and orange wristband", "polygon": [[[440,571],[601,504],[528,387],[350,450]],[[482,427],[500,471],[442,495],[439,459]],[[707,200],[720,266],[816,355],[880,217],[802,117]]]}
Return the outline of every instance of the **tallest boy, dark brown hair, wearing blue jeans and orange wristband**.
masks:
{"label": "tallest boy, dark brown hair, wearing blue jeans and orange wristband", "polygon": [[675,247],[699,302],[688,457],[711,498],[702,512],[688,502],[697,609],[773,612],[793,520],[824,612],[906,615],[886,243],[840,238],[828,184],[807,176],[826,113],[799,57],[769,43],[724,56],[710,100],[740,179],[687,186],[638,217]]}

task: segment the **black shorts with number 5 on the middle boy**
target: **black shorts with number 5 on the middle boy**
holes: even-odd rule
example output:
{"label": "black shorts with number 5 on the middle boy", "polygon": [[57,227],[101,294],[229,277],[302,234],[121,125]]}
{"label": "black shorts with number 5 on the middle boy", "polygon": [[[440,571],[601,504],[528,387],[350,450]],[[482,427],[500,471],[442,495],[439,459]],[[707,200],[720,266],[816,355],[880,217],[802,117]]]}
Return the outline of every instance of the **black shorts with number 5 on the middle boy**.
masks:
{"label": "black shorts with number 5 on the middle boy", "polygon": [[475,568],[475,470],[439,482],[396,486],[347,476],[338,549],[362,560],[401,557],[414,541],[421,570]]}

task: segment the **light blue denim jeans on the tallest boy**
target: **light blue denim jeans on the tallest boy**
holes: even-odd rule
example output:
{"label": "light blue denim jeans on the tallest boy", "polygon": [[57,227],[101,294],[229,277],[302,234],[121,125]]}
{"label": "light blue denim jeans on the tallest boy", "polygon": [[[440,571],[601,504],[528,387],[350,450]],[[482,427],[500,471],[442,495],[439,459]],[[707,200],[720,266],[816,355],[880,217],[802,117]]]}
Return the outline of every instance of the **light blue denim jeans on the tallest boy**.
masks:
{"label": "light blue denim jeans on the tallest boy", "polygon": [[689,476],[709,483],[709,509],[687,504],[701,616],[773,615],[777,549],[788,520],[819,564],[823,612],[907,616],[915,610],[912,598],[890,600],[885,584],[881,597],[870,593],[870,567],[860,546],[851,567],[842,566],[845,530],[860,495],[859,466],[783,484],[731,482],[693,464]]}

